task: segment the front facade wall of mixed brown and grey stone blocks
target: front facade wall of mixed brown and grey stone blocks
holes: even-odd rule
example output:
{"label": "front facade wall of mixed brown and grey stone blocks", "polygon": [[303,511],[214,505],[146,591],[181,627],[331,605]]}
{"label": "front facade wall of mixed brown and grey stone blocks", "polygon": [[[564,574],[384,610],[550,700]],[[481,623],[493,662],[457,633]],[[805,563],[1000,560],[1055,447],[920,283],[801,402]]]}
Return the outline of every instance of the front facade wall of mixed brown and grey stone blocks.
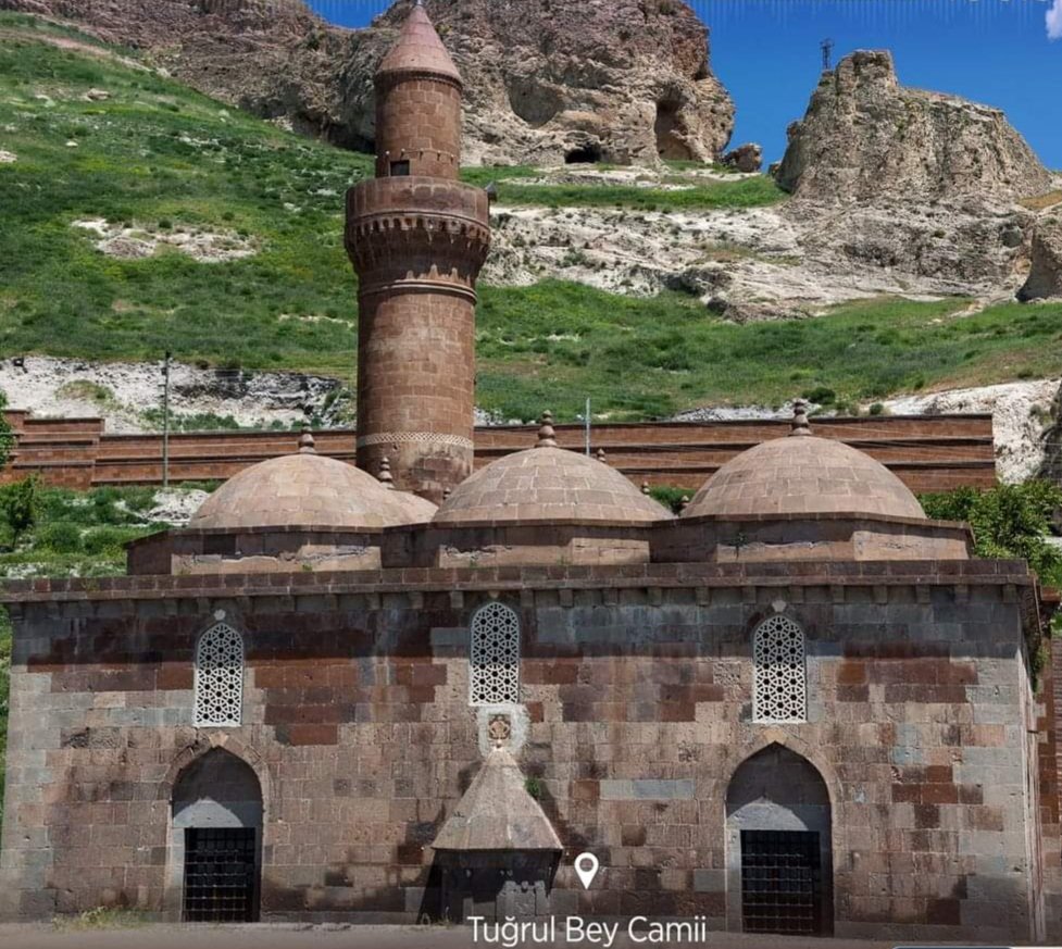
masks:
{"label": "front facade wall of mixed brown and grey stone blocks", "polygon": [[[184,597],[15,604],[0,913],[175,915],[172,788],[214,746],[262,786],[264,919],[433,912],[428,845],[489,747],[468,707],[489,589],[175,579]],[[838,935],[1027,938],[1014,589],[502,587],[523,627],[513,750],[566,848],[553,911],[733,926],[726,791],[778,742],[829,792]],[[807,635],[805,724],[751,722],[751,632],[776,610]],[[222,615],[245,636],[243,724],[196,729],[193,648]],[[588,892],[584,849],[603,867]]]}

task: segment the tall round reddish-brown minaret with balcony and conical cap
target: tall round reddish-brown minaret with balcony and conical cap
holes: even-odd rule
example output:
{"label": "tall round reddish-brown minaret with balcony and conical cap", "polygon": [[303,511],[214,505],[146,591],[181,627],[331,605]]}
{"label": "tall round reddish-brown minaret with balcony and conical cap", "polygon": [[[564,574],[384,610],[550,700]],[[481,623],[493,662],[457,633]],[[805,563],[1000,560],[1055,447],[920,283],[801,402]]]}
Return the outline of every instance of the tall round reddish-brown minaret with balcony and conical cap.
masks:
{"label": "tall round reddish-brown minaret with balcony and conical cap", "polygon": [[376,177],[347,196],[358,294],[358,466],[436,503],[472,473],[475,283],[488,199],[458,180],[461,75],[413,8],[376,73]]}

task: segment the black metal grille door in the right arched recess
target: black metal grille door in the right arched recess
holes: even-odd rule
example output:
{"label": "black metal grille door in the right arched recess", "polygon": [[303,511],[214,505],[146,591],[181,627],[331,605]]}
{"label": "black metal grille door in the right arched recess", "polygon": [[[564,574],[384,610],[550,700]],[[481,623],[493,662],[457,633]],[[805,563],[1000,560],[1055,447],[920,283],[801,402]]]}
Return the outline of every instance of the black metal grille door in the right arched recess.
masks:
{"label": "black metal grille door in the right arched recess", "polygon": [[741,832],[741,916],[746,933],[822,935],[819,834]]}

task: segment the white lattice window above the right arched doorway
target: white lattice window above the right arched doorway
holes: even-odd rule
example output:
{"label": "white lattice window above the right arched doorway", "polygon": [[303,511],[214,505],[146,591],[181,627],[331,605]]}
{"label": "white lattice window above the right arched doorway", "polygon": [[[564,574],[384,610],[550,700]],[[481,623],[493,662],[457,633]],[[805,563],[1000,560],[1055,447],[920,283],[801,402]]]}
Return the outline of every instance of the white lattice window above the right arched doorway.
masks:
{"label": "white lattice window above the right arched doorway", "polygon": [[752,720],[807,722],[803,630],[785,616],[765,620],[752,635]]}

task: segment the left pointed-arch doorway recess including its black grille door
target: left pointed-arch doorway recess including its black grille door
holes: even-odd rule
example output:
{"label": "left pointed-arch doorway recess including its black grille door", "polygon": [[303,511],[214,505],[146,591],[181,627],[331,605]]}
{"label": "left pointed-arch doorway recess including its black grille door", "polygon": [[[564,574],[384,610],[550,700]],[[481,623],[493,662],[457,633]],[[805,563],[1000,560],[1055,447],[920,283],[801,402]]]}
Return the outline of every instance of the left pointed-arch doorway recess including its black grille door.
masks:
{"label": "left pointed-arch doorway recess including its black grille door", "polygon": [[259,913],[262,789],[250,765],[214,748],[173,790],[171,846],[180,919],[254,922]]}

